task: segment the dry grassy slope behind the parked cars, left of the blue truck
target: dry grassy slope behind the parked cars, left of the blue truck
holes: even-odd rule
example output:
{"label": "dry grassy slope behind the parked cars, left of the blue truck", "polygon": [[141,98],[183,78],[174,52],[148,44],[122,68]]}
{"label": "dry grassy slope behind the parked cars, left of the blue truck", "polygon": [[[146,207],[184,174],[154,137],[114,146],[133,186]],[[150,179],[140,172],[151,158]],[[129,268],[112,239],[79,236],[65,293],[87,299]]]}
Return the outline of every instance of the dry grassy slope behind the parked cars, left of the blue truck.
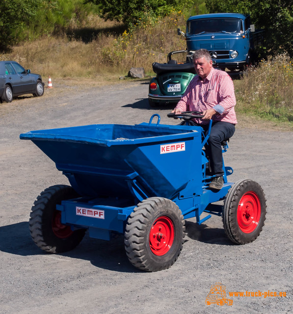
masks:
{"label": "dry grassy slope behind the parked cars, left of the blue truck", "polygon": [[[186,46],[183,37],[177,36],[178,24],[181,27],[185,24],[181,12],[174,12],[154,25],[137,26],[132,33],[123,32],[122,24],[93,16],[89,16],[88,23],[91,27],[84,25],[83,34],[94,30],[91,41],[88,38],[84,41],[80,29],[72,26],[70,36],[27,41],[0,55],[0,60],[12,59],[44,77],[54,78],[95,78],[109,73],[125,76],[131,67],[144,67],[146,73],[153,75],[154,61],[165,62],[168,52]],[[117,34],[115,29],[122,31]]]}

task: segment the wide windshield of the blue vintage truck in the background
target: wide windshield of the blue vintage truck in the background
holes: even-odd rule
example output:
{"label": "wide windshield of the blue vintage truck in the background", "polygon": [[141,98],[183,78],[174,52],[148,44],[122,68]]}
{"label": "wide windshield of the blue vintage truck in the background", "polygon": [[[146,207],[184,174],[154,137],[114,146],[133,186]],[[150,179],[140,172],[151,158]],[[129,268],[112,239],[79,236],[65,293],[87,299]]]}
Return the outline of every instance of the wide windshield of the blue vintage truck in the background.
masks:
{"label": "wide windshield of the blue vintage truck in the background", "polygon": [[241,31],[243,31],[243,28],[240,19],[213,18],[189,21],[186,34],[188,36],[200,33],[240,33]]}

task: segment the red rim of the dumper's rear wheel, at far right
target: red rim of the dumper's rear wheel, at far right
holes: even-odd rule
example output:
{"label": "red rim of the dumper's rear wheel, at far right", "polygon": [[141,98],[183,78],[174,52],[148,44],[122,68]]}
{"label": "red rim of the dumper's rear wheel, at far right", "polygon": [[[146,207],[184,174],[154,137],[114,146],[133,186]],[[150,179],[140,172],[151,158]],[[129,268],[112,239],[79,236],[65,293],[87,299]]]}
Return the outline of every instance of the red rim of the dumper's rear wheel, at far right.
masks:
{"label": "red rim of the dumper's rear wheel, at far right", "polygon": [[245,234],[253,232],[261,218],[261,202],[258,195],[252,191],[246,192],[240,199],[237,209],[239,228]]}

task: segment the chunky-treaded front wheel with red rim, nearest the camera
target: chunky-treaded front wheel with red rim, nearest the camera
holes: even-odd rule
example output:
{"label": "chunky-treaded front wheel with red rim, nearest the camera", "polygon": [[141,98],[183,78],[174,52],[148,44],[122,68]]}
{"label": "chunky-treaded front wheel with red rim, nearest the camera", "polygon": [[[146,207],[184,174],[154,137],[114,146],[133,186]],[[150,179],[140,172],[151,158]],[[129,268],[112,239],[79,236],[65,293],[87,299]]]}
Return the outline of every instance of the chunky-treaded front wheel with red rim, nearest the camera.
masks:
{"label": "chunky-treaded front wheel with red rim, nearest the camera", "polygon": [[178,259],[184,237],[185,224],[178,206],[169,199],[151,197],[139,203],[127,220],[126,254],[138,269],[167,269]]}

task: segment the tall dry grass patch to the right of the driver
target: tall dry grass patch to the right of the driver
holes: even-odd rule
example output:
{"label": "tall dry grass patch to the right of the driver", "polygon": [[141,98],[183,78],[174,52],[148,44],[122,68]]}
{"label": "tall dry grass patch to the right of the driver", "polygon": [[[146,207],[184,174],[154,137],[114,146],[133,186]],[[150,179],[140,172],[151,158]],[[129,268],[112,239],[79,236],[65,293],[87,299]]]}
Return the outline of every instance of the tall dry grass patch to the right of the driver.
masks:
{"label": "tall dry grass patch to the right of the driver", "polygon": [[239,112],[293,122],[293,63],[288,55],[263,60],[235,87]]}

